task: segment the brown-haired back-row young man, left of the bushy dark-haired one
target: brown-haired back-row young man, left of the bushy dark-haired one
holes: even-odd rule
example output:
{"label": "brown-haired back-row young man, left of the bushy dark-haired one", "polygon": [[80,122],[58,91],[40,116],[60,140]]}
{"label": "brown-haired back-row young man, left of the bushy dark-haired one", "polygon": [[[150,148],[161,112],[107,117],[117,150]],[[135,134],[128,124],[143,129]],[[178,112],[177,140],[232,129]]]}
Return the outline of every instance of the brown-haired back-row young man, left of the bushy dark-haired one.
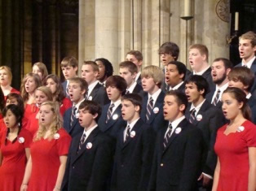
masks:
{"label": "brown-haired back-row young man, left of the bushy dark-haired one", "polygon": [[138,85],[141,85],[141,68],[142,68],[142,64],[143,64],[143,54],[141,52],[139,52],[139,50],[130,50],[127,54],[126,54],[126,60],[130,61],[132,63],[135,63],[135,65],[138,67],[138,72],[136,75],[136,82]]}

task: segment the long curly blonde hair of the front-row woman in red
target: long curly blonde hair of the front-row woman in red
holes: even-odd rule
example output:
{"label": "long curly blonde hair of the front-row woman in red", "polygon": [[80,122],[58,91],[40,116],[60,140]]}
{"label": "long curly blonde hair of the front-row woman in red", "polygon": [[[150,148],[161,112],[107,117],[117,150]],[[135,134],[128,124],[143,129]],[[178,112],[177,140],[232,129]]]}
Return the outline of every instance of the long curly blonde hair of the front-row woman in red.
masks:
{"label": "long curly blonde hair of the front-row woman in red", "polygon": [[[60,115],[60,106],[58,102],[46,101],[46,102],[43,102],[41,106],[46,106],[46,105],[51,106],[51,111],[53,112],[53,115],[54,115],[50,125],[51,133],[48,137],[48,140],[51,141],[51,139],[54,138],[55,133],[58,132],[60,128],[62,128],[63,119]],[[36,135],[33,138],[33,141],[39,141],[40,139],[42,139],[42,137],[45,136],[45,134],[46,134],[46,127],[41,123],[39,123],[38,132],[36,132]]]}

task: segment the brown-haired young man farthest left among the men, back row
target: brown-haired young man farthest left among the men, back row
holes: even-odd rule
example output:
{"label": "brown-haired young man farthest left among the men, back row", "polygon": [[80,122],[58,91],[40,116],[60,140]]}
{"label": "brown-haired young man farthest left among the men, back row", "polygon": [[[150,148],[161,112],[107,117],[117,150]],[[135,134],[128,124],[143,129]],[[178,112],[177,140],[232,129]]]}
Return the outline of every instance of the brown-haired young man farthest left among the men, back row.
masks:
{"label": "brown-haired young man farthest left among the men, back row", "polygon": [[61,71],[65,78],[65,81],[61,84],[64,90],[64,94],[66,98],[69,98],[68,95],[68,84],[69,79],[77,76],[78,63],[77,59],[73,56],[65,57],[60,63]]}

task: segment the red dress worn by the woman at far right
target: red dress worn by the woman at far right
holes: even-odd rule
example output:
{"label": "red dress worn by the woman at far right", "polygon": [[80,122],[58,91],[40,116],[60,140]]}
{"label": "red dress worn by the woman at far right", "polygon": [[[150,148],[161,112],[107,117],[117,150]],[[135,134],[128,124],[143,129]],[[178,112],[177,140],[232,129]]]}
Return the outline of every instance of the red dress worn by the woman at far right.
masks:
{"label": "red dress worn by the woman at far right", "polygon": [[246,120],[228,135],[224,134],[226,128],[227,124],[218,129],[214,145],[220,163],[217,190],[248,190],[248,147],[256,147],[256,126]]}

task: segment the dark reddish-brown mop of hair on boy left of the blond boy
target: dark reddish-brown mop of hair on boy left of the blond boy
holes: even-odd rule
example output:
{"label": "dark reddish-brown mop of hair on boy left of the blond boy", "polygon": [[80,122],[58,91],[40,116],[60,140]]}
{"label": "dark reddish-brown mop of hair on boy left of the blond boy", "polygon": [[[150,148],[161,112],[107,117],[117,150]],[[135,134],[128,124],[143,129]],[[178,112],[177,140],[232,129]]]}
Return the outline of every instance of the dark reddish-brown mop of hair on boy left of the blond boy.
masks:
{"label": "dark reddish-brown mop of hair on boy left of the blond boy", "polygon": [[121,76],[114,75],[108,77],[106,80],[106,88],[108,88],[108,86],[115,86],[121,92],[121,95],[126,93],[126,80]]}

